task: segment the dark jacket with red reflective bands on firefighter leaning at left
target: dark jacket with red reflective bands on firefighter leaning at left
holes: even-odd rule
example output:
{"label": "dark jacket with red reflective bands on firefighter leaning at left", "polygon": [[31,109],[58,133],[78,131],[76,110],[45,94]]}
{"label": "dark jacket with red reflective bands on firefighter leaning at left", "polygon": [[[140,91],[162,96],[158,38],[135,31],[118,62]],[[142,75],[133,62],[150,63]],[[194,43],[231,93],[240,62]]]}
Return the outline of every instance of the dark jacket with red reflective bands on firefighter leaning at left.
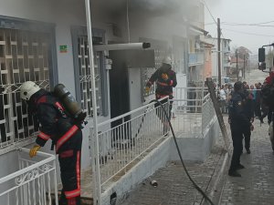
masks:
{"label": "dark jacket with red reflective bands on firefighter leaning at left", "polygon": [[40,123],[40,131],[37,135],[37,144],[43,147],[51,138],[56,145],[58,153],[66,142],[71,140],[79,127],[69,118],[65,109],[58,102],[58,98],[43,90],[41,95],[36,95],[33,100],[37,119]]}

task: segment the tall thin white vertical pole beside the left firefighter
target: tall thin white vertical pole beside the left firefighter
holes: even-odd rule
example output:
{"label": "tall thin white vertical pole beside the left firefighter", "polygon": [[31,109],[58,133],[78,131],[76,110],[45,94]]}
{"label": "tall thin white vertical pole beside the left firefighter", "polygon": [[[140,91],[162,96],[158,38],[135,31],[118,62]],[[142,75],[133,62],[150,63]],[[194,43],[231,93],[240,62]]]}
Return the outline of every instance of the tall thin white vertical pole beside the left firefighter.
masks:
{"label": "tall thin white vertical pole beside the left firefighter", "polygon": [[[93,61],[93,45],[92,45],[92,31],[91,31],[91,15],[90,15],[90,0],[85,0],[86,18],[88,28],[89,40],[89,58],[90,58],[90,78],[91,78],[91,94],[93,107],[93,128],[90,128],[91,143],[91,167],[93,176],[93,203],[101,205],[101,183],[100,183],[100,159],[99,159],[99,138],[98,138],[98,118],[97,118],[97,103],[95,90],[95,74]],[[93,132],[93,136],[91,135]],[[93,139],[92,139],[93,138]]]}

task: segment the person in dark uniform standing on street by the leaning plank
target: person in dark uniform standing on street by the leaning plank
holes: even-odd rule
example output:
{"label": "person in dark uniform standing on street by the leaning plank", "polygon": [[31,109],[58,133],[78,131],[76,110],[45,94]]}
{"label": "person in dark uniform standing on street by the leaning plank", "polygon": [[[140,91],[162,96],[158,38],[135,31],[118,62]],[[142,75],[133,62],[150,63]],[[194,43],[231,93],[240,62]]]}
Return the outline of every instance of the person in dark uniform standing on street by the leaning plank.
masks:
{"label": "person in dark uniform standing on street by the leaning plank", "polygon": [[244,128],[253,129],[252,123],[244,113],[243,84],[238,81],[234,84],[234,93],[229,101],[229,123],[233,140],[233,155],[231,159],[228,175],[231,177],[241,177],[237,169],[244,169],[240,164],[240,156],[242,152],[242,143]]}

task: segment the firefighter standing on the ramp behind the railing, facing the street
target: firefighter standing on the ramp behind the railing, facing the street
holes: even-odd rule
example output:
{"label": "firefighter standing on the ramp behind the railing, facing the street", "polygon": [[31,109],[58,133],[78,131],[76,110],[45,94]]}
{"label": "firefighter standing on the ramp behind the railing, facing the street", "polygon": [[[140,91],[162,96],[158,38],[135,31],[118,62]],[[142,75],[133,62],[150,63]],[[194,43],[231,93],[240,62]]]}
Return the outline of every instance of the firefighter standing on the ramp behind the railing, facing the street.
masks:
{"label": "firefighter standing on the ramp behind the railing, facing the street", "polygon": [[[169,99],[174,98],[173,96],[173,87],[177,85],[176,73],[172,70],[172,59],[170,57],[165,57],[163,59],[162,67],[159,67],[150,77],[149,81],[146,84],[146,92],[150,91],[153,83],[156,82],[156,99],[161,99],[163,97],[168,97]],[[162,100],[161,103],[166,103],[168,99]],[[158,104],[155,107],[159,107]],[[172,110],[172,101],[170,101],[170,106],[168,110],[169,118],[171,118]],[[164,118],[163,112],[157,113],[158,117],[163,122],[163,132],[165,132],[169,125],[167,120]],[[165,133],[164,133],[165,134]]]}

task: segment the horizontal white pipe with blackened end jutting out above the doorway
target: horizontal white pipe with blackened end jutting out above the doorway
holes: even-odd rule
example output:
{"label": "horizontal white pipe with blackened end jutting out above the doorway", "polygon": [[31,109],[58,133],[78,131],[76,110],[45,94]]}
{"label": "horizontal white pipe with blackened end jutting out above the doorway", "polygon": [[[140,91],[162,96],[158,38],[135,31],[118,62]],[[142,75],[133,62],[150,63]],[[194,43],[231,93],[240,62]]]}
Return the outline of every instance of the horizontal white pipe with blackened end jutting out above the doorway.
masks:
{"label": "horizontal white pipe with blackened end jutting out above the doorway", "polygon": [[109,50],[142,50],[151,47],[150,43],[129,43],[129,44],[110,44],[93,46],[95,51]]}

